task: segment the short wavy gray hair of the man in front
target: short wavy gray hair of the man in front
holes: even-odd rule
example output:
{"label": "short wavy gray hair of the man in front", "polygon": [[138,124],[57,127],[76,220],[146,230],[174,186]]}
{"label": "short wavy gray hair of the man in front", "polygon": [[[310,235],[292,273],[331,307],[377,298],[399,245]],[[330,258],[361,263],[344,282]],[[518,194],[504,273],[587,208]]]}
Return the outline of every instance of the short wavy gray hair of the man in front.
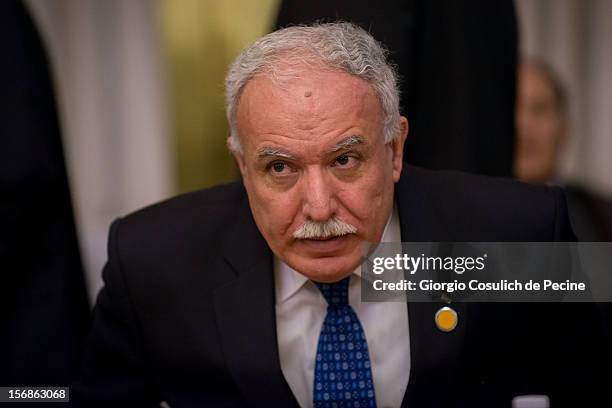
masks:
{"label": "short wavy gray hair of the man in front", "polygon": [[236,113],[245,85],[257,76],[276,78],[279,64],[303,66],[311,65],[313,60],[370,84],[383,109],[385,143],[399,137],[397,74],[387,60],[383,45],[351,23],[316,23],[274,31],[242,51],[232,63],[225,77],[225,112],[230,126],[228,144],[231,150],[242,152]]}

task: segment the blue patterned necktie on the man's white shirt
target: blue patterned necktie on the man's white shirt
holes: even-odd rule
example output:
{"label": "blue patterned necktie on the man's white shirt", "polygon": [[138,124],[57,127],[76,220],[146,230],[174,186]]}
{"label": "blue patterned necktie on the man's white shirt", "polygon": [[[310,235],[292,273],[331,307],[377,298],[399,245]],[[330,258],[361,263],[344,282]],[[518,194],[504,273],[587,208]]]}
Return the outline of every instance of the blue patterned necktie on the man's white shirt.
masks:
{"label": "blue patterned necktie on the man's white shirt", "polygon": [[315,364],[316,408],[376,407],[368,343],[348,304],[349,279],[331,284],[315,282],[327,301]]}

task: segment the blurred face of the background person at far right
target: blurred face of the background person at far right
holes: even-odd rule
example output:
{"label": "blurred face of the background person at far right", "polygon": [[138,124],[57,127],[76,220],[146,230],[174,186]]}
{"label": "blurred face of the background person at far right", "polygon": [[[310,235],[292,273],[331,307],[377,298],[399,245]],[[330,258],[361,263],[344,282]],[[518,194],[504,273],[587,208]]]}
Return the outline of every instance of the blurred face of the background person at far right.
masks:
{"label": "blurred face of the background person at far right", "polygon": [[548,182],[564,126],[550,82],[530,65],[519,70],[516,115],[515,175],[523,181]]}

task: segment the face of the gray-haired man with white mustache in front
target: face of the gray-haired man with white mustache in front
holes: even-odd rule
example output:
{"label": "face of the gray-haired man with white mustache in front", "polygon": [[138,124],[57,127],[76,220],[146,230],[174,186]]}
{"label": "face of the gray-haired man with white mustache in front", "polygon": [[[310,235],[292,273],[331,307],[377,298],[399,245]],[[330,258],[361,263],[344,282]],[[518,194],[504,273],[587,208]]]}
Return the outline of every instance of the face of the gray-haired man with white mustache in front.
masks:
{"label": "face of the gray-haired man with white mustache in front", "polygon": [[[237,128],[243,153],[235,157],[255,222],[275,255],[315,281],[350,275],[362,243],[380,240],[391,213],[406,119],[398,140],[385,145],[383,111],[366,82],[304,69],[282,85],[249,81]],[[333,219],[354,227],[344,233],[354,232],[304,238],[304,224]]]}

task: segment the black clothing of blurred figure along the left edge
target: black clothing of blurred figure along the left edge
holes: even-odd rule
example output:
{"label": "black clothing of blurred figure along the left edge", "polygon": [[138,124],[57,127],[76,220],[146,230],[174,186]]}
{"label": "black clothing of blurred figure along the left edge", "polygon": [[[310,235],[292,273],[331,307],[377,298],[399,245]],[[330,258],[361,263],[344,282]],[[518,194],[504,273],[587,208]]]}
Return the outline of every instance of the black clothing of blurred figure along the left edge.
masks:
{"label": "black clothing of blurred figure along the left edge", "polygon": [[0,386],[68,386],[89,305],[47,60],[0,2]]}

